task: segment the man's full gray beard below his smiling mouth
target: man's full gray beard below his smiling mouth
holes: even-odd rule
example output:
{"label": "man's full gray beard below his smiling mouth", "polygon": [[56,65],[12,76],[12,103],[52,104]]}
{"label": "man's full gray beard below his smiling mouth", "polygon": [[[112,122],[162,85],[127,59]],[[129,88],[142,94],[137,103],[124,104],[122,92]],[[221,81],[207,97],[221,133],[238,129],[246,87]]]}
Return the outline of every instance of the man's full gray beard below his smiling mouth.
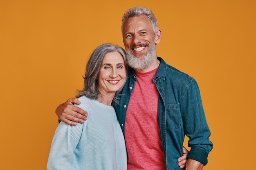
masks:
{"label": "man's full gray beard below his smiling mouth", "polygon": [[132,54],[132,50],[126,49],[126,59],[127,59],[128,65],[134,69],[143,69],[148,67],[150,64],[154,62],[156,55],[157,54],[156,54],[155,44],[153,45],[150,44],[148,46],[148,53],[143,59],[139,59],[138,58],[139,56],[135,57]]}

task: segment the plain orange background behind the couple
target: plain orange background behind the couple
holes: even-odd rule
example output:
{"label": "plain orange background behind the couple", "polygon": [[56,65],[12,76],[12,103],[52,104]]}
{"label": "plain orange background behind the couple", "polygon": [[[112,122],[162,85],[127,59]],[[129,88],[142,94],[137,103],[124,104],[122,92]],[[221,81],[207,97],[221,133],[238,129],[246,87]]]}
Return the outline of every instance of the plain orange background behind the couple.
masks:
{"label": "plain orange background behind the couple", "polygon": [[124,46],[121,17],[133,6],[158,19],[157,55],[199,84],[214,144],[204,169],[252,169],[254,0],[0,0],[0,169],[46,169],[56,107],[82,88],[94,48]]}

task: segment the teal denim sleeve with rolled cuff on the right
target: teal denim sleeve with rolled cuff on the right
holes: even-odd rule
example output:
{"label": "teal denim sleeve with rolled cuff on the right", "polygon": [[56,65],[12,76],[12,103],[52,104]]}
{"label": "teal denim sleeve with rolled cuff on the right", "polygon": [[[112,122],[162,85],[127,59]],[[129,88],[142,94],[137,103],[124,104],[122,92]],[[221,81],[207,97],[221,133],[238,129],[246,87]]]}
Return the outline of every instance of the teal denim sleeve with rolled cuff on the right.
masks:
{"label": "teal denim sleeve with rolled cuff on the right", "polygon": [[188,146],[191,147],[188,158],[206,165],[213,143],[209,140],[211,132],[204,114],[200,90],[194,78],[191,78],[186,86],[181,107],[184,132],[189,137]]}

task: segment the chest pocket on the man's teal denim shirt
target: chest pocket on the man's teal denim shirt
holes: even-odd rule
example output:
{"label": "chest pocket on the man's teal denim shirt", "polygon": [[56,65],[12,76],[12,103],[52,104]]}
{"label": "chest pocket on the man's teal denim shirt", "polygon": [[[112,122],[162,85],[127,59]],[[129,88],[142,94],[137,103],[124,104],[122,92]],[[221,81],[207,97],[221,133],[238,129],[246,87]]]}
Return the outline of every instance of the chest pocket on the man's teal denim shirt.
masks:
{"label": "chest pocket on the man's teal denim shirt", "polygon": [[179,129],[181,126],[180,103],[166,105],[166,128]]}

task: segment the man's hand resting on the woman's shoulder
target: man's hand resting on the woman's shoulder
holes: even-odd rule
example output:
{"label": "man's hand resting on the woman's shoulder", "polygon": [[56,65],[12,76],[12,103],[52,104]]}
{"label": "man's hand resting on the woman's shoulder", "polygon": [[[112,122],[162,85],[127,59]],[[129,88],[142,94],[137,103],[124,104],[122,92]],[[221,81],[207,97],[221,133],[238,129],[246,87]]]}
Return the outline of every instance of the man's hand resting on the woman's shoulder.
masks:
{"label": "man's hand resting on the woman's shoulder", "polygon": [[65,103],[59,105],[55,111],[58,119],[73,126],[77,125],[77,122],[83,123],[84,120],[87,120],[87,113],[83,109],[73,105],[79,105],[80,103],[77,98],[70,98]]}

